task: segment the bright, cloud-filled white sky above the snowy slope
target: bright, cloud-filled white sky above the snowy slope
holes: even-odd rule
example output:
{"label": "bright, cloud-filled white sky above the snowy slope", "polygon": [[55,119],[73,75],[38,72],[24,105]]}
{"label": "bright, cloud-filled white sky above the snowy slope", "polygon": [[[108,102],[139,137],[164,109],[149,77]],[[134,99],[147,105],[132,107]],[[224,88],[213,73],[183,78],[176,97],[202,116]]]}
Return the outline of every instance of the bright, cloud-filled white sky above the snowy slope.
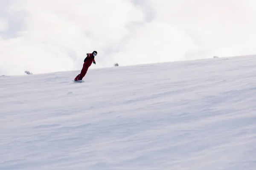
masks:
{"label": "bright, cloud-filled white sky above the snowy slope", "polygon": [[255,0],[0,0],[0,75],[256,54]]}

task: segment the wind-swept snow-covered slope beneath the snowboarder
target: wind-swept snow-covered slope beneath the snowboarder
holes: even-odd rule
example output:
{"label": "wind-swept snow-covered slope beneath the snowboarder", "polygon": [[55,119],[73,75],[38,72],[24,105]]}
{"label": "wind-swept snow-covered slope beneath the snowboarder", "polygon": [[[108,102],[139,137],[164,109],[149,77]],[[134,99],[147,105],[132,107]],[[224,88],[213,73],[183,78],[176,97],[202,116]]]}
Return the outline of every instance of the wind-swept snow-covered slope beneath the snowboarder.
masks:
{"label": "wind-swept snow-covered slope beneath the snowboarder", "polygon": [[0,170],[255,170],[256,56],[0,77]]}

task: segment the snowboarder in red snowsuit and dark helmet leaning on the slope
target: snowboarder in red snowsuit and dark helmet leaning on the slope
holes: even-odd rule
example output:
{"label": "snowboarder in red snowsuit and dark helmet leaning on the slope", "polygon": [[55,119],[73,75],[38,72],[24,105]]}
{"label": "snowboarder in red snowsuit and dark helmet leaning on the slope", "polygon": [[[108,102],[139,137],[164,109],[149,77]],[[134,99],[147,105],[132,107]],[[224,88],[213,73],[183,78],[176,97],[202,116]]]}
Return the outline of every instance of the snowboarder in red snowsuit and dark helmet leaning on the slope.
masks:
{"label": "snowboarder in red snowsuit and dark helmet leaning on the slope", "polygon": [[82,80],[85,74],[87,73],[87,70],[90,67],[90,65],[92,65],[92,63],[96,64],[94,57],[97,55],[97,51],[93,51],[93,53],[87,53],[86,55],[87,57],[84,59],[84,65],[81,70],[81,73],[76,76],[75,81]]}

